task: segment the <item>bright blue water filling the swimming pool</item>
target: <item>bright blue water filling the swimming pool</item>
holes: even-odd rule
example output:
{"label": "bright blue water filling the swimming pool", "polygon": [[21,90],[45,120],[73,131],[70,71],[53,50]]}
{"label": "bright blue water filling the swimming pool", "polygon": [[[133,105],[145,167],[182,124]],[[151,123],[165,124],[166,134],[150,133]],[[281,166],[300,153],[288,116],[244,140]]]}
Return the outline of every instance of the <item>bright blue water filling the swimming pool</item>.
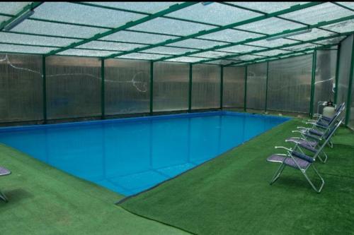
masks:
{"label": "bright blue water filling the swimming pool", "polygon": [[122,195],[132,195],[287,120],[207,112],[12,127],[0,128],[0,143]]}

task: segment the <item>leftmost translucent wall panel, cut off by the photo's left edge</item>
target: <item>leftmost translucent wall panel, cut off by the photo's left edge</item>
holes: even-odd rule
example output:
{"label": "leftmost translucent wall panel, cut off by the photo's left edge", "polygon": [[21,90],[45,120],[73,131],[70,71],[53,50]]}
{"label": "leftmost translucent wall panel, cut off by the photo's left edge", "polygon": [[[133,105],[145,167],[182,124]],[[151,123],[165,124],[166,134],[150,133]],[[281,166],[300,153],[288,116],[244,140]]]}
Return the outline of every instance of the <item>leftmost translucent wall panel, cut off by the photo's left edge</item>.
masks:
{"label": "leftmost translucent wall panel, cut off by the photo's left edge", "polygon": [[0,54],[0,122],[43,119],[42,56]]}

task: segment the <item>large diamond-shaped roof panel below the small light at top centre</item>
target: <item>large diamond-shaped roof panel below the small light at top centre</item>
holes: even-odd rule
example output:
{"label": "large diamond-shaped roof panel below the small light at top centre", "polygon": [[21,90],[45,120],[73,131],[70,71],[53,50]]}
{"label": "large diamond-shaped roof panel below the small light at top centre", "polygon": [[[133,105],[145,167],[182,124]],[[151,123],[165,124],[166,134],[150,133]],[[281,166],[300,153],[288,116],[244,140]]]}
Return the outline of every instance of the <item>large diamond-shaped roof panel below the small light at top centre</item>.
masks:
{"label": "large diamond-shaped roof panel below the small light at top centre", "polygon": [[262,14],[214,2],[213,4],[208,5],[198,3],[189,6],[188,8],[169,13],[166,16],[196,20],[216,25],[228,25],[242,20],[248,20],[249,18],[262,16]]}

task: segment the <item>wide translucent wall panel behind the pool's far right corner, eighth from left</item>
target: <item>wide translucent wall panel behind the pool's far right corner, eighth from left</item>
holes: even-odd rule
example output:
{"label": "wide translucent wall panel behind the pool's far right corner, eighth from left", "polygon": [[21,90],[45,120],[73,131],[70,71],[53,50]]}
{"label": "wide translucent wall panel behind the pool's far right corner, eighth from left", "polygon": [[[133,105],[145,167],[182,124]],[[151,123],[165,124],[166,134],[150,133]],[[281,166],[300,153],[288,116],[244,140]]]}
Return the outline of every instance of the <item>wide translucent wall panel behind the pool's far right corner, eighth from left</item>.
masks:
{"label": "wide translucent wall panel behind the pool's far right corner, eighth from left", "polygon": [[312,54],[269,62],[268,109],[309,112]]}

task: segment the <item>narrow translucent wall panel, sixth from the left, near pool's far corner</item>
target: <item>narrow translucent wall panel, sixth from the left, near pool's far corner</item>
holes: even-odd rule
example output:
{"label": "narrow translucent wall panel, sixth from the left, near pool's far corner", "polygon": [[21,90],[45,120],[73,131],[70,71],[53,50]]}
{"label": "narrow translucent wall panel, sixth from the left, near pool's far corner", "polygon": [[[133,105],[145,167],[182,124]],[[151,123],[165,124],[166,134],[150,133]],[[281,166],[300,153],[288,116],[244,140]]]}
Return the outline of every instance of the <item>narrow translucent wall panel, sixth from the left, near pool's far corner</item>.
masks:
{"label": "narrow translucent wall panel, sixth from the left, near pool's far corner", "polygon": [[224,67],[222,104],[224,107],[244,107],[245,67]]}

